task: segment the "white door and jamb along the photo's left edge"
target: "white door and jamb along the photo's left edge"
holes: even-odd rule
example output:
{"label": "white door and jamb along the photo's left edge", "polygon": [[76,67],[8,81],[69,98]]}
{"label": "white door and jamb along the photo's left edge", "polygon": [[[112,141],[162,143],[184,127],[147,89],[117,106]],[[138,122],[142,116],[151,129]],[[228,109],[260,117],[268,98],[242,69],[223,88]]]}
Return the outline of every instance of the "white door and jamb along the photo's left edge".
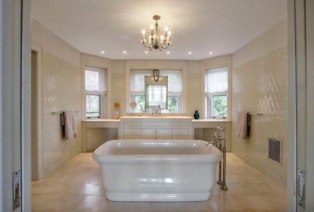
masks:
{"label": "white door and jamb along the photo's left edge", "polygon": [[29,212],[30,0],[0,0],[0,14],[0,211]]}

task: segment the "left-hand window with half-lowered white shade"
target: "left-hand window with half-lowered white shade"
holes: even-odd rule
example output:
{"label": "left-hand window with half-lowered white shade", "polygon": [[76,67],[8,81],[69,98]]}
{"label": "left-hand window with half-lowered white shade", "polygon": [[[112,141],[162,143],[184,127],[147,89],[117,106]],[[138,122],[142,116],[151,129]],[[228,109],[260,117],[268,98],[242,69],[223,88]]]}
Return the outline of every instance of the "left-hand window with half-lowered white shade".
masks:
{"label": "left-hand window with half-lowered white shade", "polygon": [[106,69],[85,66],[86,117],[104,116]]}

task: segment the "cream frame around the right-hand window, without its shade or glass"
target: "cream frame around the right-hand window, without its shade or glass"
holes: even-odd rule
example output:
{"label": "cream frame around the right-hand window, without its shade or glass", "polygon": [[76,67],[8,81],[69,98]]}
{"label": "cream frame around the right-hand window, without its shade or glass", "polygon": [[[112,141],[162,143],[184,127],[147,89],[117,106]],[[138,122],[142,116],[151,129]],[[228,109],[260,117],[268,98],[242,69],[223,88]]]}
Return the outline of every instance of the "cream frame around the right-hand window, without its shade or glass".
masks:
{"label": "cream frame around the right-hand window, without its shade or glass", "polygon": [[[215,92],[211,95],[206,93],[206,72],[208,69],[219,68],[227,66],[228,68],[228,90],[224,92]],[[231,55],[225,55],[215,58],[209,58],[202,61],[202,87],[204,98],[202,101],[202,109],[207,119],[231,119]],[[214,95],[227,95],[227,116],[214,116],[213,115],[213,98]]]}

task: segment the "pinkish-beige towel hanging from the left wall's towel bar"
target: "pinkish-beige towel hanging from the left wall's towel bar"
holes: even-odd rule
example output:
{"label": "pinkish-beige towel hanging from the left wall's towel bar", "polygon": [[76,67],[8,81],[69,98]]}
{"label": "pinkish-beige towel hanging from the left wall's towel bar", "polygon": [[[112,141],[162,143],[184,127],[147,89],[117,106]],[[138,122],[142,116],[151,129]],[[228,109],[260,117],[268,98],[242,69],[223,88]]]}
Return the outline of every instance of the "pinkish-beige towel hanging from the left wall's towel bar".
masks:
{"label": "pinkish-beige towel hanging from the left wall's towel bar", "polygon": [[65,139],[68,140],[78,136],[77,125],[72,111],[67,110],[61,114],[61,126]]}

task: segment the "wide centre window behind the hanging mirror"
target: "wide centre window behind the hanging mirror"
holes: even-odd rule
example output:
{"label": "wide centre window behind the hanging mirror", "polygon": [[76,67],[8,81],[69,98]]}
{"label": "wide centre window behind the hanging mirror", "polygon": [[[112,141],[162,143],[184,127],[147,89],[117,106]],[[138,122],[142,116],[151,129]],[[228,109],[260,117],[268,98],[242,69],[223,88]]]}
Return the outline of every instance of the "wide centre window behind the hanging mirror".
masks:
{"label": "wide centre window behind the hanging mirror", "polygon": [[[182,70],[160,70],[159,75],[168,76],[168,110],[163,113],[182,113],[183,80]],[[145,76],[153,76],[153,70],[131,70],[130,73],[130,100],[136,102],[134,111],[151,112],[145,110]]]}

